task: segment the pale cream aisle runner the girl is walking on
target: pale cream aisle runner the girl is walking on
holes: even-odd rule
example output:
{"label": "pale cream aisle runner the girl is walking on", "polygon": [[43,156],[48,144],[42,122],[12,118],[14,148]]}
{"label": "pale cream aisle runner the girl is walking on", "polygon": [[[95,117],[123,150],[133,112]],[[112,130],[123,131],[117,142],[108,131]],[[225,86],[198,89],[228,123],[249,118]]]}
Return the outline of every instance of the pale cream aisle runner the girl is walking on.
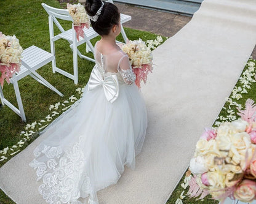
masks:
{"label": "pale cream aisle runner the girl is walking on", "polygon": [[[211,126],[256,43],[255,0],[204,0],[180,32],[154,51],[142,88],[149,127],[134,171],[98,192],[100,204],[164,204]],[[0,186],[19,204],[46,203],[28,166],[36,139],[0,169]]]}

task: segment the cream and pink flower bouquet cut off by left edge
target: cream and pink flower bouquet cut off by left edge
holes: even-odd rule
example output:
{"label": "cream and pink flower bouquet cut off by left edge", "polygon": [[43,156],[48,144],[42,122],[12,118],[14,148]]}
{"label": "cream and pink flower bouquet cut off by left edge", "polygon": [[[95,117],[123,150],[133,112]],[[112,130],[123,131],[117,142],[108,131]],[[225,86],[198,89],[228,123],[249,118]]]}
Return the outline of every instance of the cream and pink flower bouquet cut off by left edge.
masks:
{"label": "cream and pink flower bouquet cut off by left edge", "polygon": [[0,32],[0,83],[3,88],[4,80],[10,83],[15,72],[20,71],[23,49],[16,36],[5,36]]}

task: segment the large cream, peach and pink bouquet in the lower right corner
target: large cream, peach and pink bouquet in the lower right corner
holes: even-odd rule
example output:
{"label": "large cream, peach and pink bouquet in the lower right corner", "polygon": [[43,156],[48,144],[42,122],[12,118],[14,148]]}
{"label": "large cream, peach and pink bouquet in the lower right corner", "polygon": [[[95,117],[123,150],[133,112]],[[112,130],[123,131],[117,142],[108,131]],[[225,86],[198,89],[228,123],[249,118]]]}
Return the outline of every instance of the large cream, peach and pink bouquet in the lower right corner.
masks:
{"label": "large cream, peach and pink bouquet in the lower right corner", "polygon": [[210,194],[221,202],[227,197],[242,202],[256,199],[255,106],[248,99],[245,110],[238,109],[241,118],[202,134],[190,161],[191,197]]}

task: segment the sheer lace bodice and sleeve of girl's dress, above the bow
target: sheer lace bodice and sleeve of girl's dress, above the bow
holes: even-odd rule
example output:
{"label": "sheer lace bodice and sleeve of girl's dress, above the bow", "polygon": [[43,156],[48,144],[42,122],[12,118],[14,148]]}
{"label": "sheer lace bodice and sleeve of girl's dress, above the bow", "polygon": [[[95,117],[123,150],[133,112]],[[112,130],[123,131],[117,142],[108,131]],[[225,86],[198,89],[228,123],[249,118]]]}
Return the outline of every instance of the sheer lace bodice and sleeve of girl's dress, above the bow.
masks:
{"label": "sheer lace bodice and sleeve of girl's dress, above the bow", "polygon": [[136,77],[132,72],[129,58],[124,51],[119,50],[108,55],[103,55],[97,49],[97,43],[94,47],[94,58],[98,69],[103,76],[116,75],[119,83],[134,83]]}

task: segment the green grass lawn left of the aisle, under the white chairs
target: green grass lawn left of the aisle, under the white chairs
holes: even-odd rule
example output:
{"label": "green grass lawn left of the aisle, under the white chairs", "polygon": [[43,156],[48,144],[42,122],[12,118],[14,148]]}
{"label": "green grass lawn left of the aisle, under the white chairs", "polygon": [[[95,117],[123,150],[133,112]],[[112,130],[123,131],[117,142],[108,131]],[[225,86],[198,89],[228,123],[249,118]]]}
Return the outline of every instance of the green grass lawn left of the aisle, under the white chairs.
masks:
{"label": "green grass lawn left of the aisle, under the white chairs", "polygon": [[[41,6],[42,2],[60,9],[65,7],[65,3],[60,4],[57,0],[1,0],[0,31],[10,36],[15,34],[23,49],[31,45],[36,45],[50,52],[48,15]],[[60,23],[62,23],[64,29],[71,28],[71,22],[69,21],[60,21]],[[137,31],[129,28],[124,29],[130,40],[138,38],[145,41],[156,39],[156,34],[150,32]],[[55,34],[59,33],[57,27],[55,27],[54,32]],[[100,37],[92,40],[93,45],[97,40],[100,40]],[[123,42],[122,36],[118,36],[117,40]],[[166,40],[166,38],[164,38],[164,40]],[[85,53],[86,45],[79,46],[79,50]],[[57,40],[55,43],[55,53],[57,67],[73,74],[73,53],[69,47],[69,43],[66,40]],[[92,53],[87,53],[86,55],[93,57]],[[20,132],[25,129],[26,124],[45,119],[45,117],[52,112],[49,110],[51,104],[68,100],[72,95],[79,97],[79,94],[75,90],[86,85],[93,67],[93,62],[78,58],[78,85],[74,85],[73,80],[63,75],[57,73],[53,74],[51,63],[37,70],[42,77],[63,93],[65,95],[64,97],[58,96],[54,91],[41,85],[30,76],[18,81],[27,121],[23,123],[20,116],[16,115],[9,107],[0,107],[0,150],[7,146],[11,147],[12,145],[17,145],[17,142],[23,138]],[[14,88],[11,84],[8,85],[4,83],[3,93],[7,100],[17,106]],[[19,149],[25,149],[35,138],[36,137],[31,138],[31,140],[26,142]],[[0,154],[0,156],[2,156],[2,154]],[[13,156],[15,156],[15,154]],[[12,156],[8,155],[7,157],[8,159],[0,162],[0,167]],[[0,191],[0,203],[6,204],[14,202],[12,202],[4,192]]]}

